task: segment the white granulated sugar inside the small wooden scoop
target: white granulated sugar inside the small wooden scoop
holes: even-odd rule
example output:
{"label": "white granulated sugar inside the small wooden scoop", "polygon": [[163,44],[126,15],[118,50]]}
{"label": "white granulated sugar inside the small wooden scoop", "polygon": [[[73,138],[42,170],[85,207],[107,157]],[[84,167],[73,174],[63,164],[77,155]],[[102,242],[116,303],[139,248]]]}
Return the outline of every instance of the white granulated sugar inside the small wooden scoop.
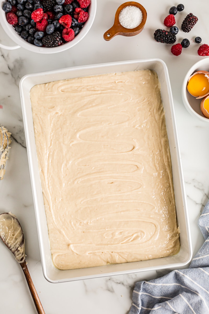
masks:
{"label": "white granulated sugar inside the small wooden scoop", "polygon": [[119,14],[119,22],[125,28],[135,28],[142,21],[142,11],[134,6],[123,8]]}

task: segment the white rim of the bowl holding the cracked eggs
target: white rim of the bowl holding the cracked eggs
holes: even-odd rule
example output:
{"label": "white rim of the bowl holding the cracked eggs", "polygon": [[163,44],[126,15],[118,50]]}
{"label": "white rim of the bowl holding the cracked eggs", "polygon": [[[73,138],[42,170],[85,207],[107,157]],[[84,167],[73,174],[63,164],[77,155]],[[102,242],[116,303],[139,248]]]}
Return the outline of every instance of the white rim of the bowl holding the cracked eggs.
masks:
{"label": "white rim of the bowl holding the cracked eggs", "polygon": [[182,89],[181,89],[181,96],[182,96],[182,100],[184,103],[185,108],[187,109],[187,111],[194,117],[198,118],[200,121],[202,122],[209,122],[209,119],[203,116],[200,116],[190,105],[187,96],[186,96],[186,86],[187,86],[187,82],[188,79],[190,78],[190,76],[196,72],[199,71],[198,68],[200,65],[202,64],[208,64],[209,67],[209,57],[206,57],[202,60],[197,61],[196,63],[194,63],[191,68],[187,71],[185,78],[183,80],[183,84],[182,84]]}

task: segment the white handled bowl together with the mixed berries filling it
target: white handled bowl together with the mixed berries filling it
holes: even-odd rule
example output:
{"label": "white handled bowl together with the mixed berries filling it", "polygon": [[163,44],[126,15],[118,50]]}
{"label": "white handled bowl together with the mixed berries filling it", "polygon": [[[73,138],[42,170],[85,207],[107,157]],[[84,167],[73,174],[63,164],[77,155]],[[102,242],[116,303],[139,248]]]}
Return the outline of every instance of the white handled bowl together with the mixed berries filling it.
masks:
{"label": "white handled bowl together with the mixed berries filling it", "polygon": [[17,45],[38,53],[75,46],[90,30],[96,0],[0,0],[0,23]]}

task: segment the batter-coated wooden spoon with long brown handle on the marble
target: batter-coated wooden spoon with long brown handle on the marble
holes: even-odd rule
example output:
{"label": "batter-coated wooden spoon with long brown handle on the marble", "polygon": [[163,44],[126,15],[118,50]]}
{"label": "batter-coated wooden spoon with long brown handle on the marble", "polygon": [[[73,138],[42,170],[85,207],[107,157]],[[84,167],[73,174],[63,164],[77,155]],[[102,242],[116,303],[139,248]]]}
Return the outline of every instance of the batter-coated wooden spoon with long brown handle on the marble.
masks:
{"label": "batter-coated wooden spoon with long brown handle on the marble", "polygon": [[11,213],[0,214],[0,238],[22,267],[38,314],[45,314],[25,262],[25,240],[18,219]]}

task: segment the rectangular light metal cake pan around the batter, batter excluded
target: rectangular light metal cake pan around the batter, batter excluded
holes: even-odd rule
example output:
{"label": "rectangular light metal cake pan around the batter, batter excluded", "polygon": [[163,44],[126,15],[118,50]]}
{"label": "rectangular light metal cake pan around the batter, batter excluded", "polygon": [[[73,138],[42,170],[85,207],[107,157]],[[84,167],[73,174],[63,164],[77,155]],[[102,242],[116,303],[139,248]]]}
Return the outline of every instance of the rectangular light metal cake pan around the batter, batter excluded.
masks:
{"label": "rectangular light metal cake pan around the batter, batter excluded", "polygon": [[[180,226],[180,246],[181,246],[180,252],[174,256],[157,258],[148,261],[114,265],[112,264],[100,267],[72,270],[56,269],[53,266],[51,258],[48,227],[44,209],[41,182],[39,178],[39,168],[34,138],[33,117],[30,103],[30,89],[36,84],[48,83],[56,80],[63,80],[68,78],[76,78],[104,73],[126,72],[146,69],[156,71],[161,84],[161,97],[165,109],[165,120],[172,160],[177,221],[178,225]],[[157,270],[163,268],[180,268],[189,263],[192,256],[190,227],[187,214],[187,204],[185,198],[184,180],[182,174],[180,151],[176,131],[173,99],[168,70],[165,62],[163,62],[160,59],[142,59],[95,64],[29,74],[24,76],[20,81],[20,96],[24,119],[30,178],[34,198],[36,223],[39,236],[42,269],[44,277],[48,281],[52,283],[58,283],[79,279],[137,273],[142,271]]]}

